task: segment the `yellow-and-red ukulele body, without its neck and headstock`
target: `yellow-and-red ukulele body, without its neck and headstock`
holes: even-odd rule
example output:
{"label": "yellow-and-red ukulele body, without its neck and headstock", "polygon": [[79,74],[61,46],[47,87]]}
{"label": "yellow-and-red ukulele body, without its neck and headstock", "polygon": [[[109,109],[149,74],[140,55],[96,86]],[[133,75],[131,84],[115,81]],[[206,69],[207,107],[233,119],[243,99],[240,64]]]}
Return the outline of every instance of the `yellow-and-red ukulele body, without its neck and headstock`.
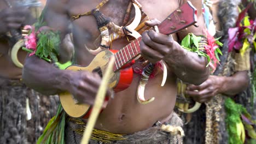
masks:
{"label": "yellow-and-red ukulele body, without its neck and headstock", "polygon": [[[79,65],[71,65],[67,70],[86,70],[95,71],[100,75],[104,75],[107,68],[110,57],[117,51],[115,50],[104,50],[99,52],[92,62],[87,67],[80,67]],[[112,71],[110,74],[109,88],[113,88],[115,92],[123,91],[131,85],[133,71],[132,68],[121,69],[117,71]],[[64,92],[59,94],[60,102],[63,109],[67,114],[74,118],[88,118],[91,113],[91,106],[87,104],[75,104],[73,95],[69,92]],[[107,99],[105,99],[107,100]]]}

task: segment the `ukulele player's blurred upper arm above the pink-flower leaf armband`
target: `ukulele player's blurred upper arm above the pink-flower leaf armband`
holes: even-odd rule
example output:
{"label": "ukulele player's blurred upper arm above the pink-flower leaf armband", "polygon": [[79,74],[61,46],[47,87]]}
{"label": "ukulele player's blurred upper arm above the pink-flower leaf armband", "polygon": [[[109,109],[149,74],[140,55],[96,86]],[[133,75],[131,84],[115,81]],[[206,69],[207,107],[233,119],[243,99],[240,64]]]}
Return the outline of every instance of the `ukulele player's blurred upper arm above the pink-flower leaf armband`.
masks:
{"label": "ukulele player's blurred upper arm above the pink-flower leaf armband", "polygon": [[60,31],[63,38],[70,23],[67,0],[48,0],[45,9],[44,21],[49,27]]}

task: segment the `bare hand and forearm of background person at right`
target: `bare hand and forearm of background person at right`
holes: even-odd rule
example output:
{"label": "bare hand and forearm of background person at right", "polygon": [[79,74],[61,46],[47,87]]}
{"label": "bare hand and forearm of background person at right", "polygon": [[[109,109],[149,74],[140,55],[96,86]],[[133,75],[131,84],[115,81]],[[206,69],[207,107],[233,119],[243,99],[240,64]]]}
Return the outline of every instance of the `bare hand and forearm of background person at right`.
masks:
{"label": "bare hand and forearm of background person at right", "polygon": [[[217,10],[218,1],[216,1],[213,10]],[[247,4],[247,1],[243,1],[243,4]],[[250,17],[255,18],[254,7],[251,7],[248,11]],[[217,16],[218,11],[213,11],[213,16]],[[216,20],[218,21],[217,17]],[[217,22],[218,23],[218,22]],[[217,26],[219,27],[219,26]],[[237,71],[231,76],[214,76],[211,75],[208,79],[199,86],[189,85],[186,93],[193,97],[193,99],[199,103],[205,103],[211,100],[217,94],[225,94],[230,97],[245,91],[249,86],[248,71]],[[195,91],[197,90],[197,91]]]}

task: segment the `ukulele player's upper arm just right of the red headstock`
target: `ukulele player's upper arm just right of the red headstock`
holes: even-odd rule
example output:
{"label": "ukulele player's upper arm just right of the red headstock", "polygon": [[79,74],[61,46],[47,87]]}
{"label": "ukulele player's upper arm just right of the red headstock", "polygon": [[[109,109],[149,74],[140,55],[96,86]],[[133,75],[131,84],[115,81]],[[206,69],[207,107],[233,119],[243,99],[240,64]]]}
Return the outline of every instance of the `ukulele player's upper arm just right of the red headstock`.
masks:
{"label": "ukulele player's upper arm just right of the red headstock", "polygon": [[[187,0],[183,0],[183,3],[186,3]],[[199,27],[195,26],[190,26],[187,29],[184,29],[181,32],[178,32],[178,37],[180,40],[182,40],[186,35],[189,33],[193,33],[195,35],[203,35],[203,28],[204,28],[204,22],[203,22],[203,16],[202,16],[202,1],[201,0],[194,0],[190,1],[194,7],[197,9],[197,23],[196,25]]]}

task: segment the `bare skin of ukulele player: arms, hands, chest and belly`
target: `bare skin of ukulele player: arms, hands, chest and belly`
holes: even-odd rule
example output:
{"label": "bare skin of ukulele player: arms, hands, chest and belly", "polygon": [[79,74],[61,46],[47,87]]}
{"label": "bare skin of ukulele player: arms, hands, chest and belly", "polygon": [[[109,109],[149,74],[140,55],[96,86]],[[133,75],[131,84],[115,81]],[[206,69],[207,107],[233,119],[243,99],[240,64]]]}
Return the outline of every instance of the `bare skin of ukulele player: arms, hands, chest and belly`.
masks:
{"label": "bare skin of ukulele player: arms, hands, chest and belly", "polygon": [[[63,38],[67,32],[70,16],[91,11],[100,2],[100,0],[48,0],[45,20],[49,27],[60,30]],[[186,1],[138,0],[138,2],[142,5],[144,13],[150,18],[162,21]],[[176,101],[177,77],[195,85],[200,85],[207,79],[209,75],[209,69],[206,67],[207,60],[197,56],[196,53],[184,50],[177,43],[177,40],[183,39],[188,33],[203,34],[201,1],[192,1],[192,3],[197,8],[199,27],[191,26],[182,32],[172,34],[173,39],[153,30],[142,34],[141,55],[153,63],[162,59],[168,66],[168,77],[164,87],[160,87],[162,74],[156,75],[147,84],[146,99],[155,97],[155,100],[147,105],[138,103],[136,90],[140,76],[135,74],[131,86],[124,91],[115,93],[114,98],[108,101],[106,109],[97,119],[96,129],[114,134],[133,134],[151,128],[156,121],[167,122],[175,115],[173,114],[173,107]],[[109,0],[100,11],[105,16],[110,17],[115,24],[121,26],[128,4],[129,1]],[[159,9],[156,11],[155,8]],[[149,21],[147,24],[153,26],[155,23],[157,21]],[[78,53],[76,61],[77,64],[86,66],[92,61],[94,55],[91,55],[84,45],[86,44],[90,49],[95,49],[94,41],[100,34],[96,20],[92,15],[82,16],[72,21],[72,24],[75,50]],[[114,41],[112,49],[119,50],[120,47],[127,44],[129,44],[127,39],[121,38]],[[96,73],[60,70],[36,56],[27,57],[22,79],[27,86],[44,94],[68,91],[79,101],[90,105],[94,104],[95,95],[101,83],[101,77]],[[86,121],[86,119],[84,120]],[[66,133],[68,133],[67,130]],[[157,141],[149,143],[154,142]]]}

